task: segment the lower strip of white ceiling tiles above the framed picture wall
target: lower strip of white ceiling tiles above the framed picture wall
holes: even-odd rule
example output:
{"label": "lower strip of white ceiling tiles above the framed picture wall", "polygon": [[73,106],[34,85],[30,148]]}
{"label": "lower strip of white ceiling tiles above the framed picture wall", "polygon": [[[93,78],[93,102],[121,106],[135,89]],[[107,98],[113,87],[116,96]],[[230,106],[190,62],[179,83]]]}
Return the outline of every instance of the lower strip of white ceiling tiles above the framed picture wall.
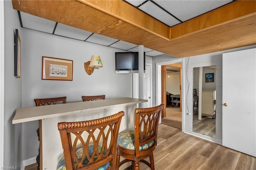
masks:
{"label": "lower strip of white ceiling tiles above the framed picture wall", "polygon": [[[116,48],[117,51],[118,49],[133,51],[133,52],[138,51],[138,45],[133,43],[124,42],[124,41],[103,36],[100,34],[88,32],[86,30],[81,30],[79,28],[75,28],[72,26],[47,20],[45,18],[34,16],[25,12],[18,12],[18,13],[19,13],[20,23],[22,25],[22,28],[28,28],[31,30],[45,32],[45,33],[53,34],[56,36],[62,36],[66,38],[72,38],[75,40],[113,47],[113,48]],[[148,56],[156,56],[156,55],[164,54],[159,51],[149,49],[146,47],[144,47],[144,51]]]}

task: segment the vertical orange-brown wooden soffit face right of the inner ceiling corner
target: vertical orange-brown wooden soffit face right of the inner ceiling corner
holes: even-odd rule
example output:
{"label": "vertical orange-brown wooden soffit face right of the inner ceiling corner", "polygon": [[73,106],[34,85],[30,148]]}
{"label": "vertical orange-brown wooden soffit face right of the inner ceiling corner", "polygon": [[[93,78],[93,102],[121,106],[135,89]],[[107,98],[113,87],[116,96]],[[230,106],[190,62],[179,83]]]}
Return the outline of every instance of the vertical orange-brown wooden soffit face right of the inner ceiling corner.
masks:
{"label": "vertical orange-brown wooden soffit face right of the inner ceiling corner", "polygon": [[256,13],[256,1],[238,0],[171,27],[171,40],[240,20]]}

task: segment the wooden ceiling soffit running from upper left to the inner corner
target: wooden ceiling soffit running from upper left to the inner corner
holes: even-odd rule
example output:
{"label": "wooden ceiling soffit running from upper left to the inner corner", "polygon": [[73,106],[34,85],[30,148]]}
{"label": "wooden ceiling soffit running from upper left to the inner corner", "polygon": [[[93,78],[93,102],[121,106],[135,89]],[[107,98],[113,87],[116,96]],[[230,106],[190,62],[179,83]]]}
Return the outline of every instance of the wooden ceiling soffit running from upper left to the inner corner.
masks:
{"label": "wooden ceiling soffit running from upper left to the inner corner", "polygon": [[[106,8],[115,9],[117,12],[120,11],[117,6],[136,11],[136,14],[130,16],[130,20],[135,24],[124,22],[124,20],[102,12],[104,10],[98,10],[95,6],[92,7],[77,0],[12,0],[12,5],[18,11],[137,45],[144,45],[144,41],[152,42],[155,38],[170,40],[170,28],[165,24],[123,1],[98,1],[98,4],[104,4],[102,2],[105,2]],[[122,13],[122,16],[129,16],[129,13]],[[143,22],[141,18],[144,20]],[[142,24],[139,24],[139,21]]]}

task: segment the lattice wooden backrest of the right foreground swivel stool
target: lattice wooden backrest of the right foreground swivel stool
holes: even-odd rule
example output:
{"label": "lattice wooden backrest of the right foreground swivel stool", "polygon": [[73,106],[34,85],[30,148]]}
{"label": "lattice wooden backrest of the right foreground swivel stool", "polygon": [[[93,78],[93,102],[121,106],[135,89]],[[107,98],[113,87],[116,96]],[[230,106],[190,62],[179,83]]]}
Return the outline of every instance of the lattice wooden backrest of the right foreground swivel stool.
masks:
{"label": "lattice wooden backrest of the right foreground swivel stool", "polygon": [[156,107],[150,108],[138,108],[135,109],[134,117],[134,151],[135,156],[139,157],[143,155],[143,152],[148,152],[146,150],[140,150],[140,146],[149,143],[154,140],[153,146],[150,147],[150,152],[152,152],[157,145],[157,132],[160,115],[164,103]]}

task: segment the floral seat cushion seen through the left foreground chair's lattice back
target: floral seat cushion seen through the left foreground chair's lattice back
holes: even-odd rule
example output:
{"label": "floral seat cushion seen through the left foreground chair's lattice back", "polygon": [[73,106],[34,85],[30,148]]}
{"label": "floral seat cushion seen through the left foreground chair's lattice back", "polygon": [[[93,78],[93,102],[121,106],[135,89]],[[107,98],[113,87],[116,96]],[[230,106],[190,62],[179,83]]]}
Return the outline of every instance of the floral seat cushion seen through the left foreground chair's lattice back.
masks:
{"label": "floral seat cushion seen through the left foreground chair's lattice back", "polygon": [[[88,151],[89,151],[89,155],[90,155],[90,156],[92,156],[93,147],[94,147],[93,145],[89,145],[89,146],[88,146]],[[98,146],[98,150],[99,150],[99,151],[101,150],[101,146]],[[79,161],[80,161],[81,158],[82,158],[82,154],[83,154],[83,148],[82,148],[82,146],[78,146],[78,147],[76,148],[76,155],[77,155]],[[106,153],[104,153],[104,154],[106,154]],[[95,158],[95,159],[96,159],[96,158]],[[88,161],[87,157],[85,156],[85,157],[84,157],[83,164],[84,164],[84,165],[87,165],[88,162],[89,162],[89,161]],[[97,168],[96,170],[106,170],[109,166],[110,166],[110,163],[108,162],[107,164],[101,166],[100,168]],[[75,168],[76,168],[76,167],[77,167],[77,164],[76,164],[76,162],[75,162]],[[56,170],[66,170],[64,155],[63,155],[63,156],[61,157],[61,159],[59,160]]]}

